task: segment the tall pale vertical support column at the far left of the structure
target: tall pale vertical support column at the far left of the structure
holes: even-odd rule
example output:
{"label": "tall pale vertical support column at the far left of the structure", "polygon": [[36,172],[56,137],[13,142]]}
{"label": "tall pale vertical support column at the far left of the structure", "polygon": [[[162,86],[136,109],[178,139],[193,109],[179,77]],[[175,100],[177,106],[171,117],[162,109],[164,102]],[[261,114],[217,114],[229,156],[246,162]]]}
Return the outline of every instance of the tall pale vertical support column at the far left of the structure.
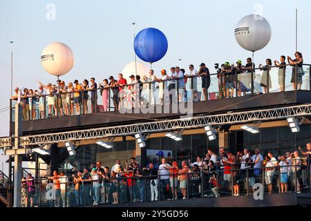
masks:
{"label": "tall pale vertical support column at the far left of the structure", "polygon": [[[22,109],[19,102],[15,104],[15,150],[19,148],[19,136],[21,136],[21,115]],[[22,162],[23,155],[14,155],[14,207],[21,206],[21,177],[22,177]]]}

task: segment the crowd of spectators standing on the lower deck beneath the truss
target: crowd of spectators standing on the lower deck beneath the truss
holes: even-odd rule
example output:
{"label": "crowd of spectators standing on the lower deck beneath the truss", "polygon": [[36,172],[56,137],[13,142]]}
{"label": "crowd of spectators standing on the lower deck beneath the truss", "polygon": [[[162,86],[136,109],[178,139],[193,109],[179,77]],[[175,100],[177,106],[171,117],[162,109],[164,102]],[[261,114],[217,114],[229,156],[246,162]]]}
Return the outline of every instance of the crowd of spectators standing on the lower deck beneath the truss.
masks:
{"label": "crowd of spectators standing on the lower deck beneath the truss", "polygon": [[[218,155],[209,149],[195,162],[182,160],[178,165],[176,160],[162,157],[158,164],[146,167],[132,157],[124,166],[120,160],[111,168],[98,161],[68,176],[54,171],[48,180],[54,184],[54,206],[238,197],[241,192],[252,195],[256,183],[264,184],[267,194],[301,193],[310,187],[311,144],[306,145],[306,151],[299,146],[299,151],[276,157],[271,151],[263,155],[258,148],[254,152],[245,148],[236,154],[220,148]],[[31,175],[22,184],[32,206],[35,187]]]}

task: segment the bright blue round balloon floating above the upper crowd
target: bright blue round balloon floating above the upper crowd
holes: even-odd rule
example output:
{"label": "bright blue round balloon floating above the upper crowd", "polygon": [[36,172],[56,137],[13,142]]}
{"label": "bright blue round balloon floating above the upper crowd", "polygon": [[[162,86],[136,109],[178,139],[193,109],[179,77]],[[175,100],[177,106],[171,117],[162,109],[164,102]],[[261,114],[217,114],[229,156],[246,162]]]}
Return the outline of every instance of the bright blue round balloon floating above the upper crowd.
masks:
{"label": "bright blue round balloon floating above the upper crowd", "polygon": [[167,37],[156,28],[145,28],[134,39],[136,55],[149,63],[162,59],[167,53],[167,47]]}

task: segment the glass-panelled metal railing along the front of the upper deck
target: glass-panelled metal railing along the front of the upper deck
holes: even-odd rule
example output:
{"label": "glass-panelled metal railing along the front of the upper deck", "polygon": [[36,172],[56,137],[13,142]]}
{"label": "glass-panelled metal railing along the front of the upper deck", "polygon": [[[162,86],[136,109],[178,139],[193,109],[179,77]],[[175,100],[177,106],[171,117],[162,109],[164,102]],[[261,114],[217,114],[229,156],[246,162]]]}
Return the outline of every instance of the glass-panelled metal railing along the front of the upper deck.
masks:
{"label": "glass-panelled metal railing along the front of the upper deck", "polygon": [[[165,104],[208,101],[287,90],[310,90],[310,64],[302,66],[270,66],[246,70],[219,71],[205,77],[156,78],[155,81],[100,86],[51,95],[27,95],[21,98],[23,120],[46,119],[70,115],[85,115],[121,109]],[[285,67],[288,67],[285,69]],[[296,84],[297,82],[297,84]],[[205,86],[204,86],[205,85]],[[202,90],[205,88],[206,90]],[[100,99],[101,98],[101,99]],[[206,99],[205,99],[206,98]],[[10,99],[10,119],[14,121],[15,99]]]}

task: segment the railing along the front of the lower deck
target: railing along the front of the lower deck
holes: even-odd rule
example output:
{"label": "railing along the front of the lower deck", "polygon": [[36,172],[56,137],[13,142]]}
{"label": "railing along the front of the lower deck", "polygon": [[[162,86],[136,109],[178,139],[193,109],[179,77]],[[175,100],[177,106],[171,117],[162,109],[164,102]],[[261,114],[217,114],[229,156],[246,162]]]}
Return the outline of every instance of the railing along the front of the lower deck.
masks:
{"label": "railing along the front of the lower deck", "polygon": [[[167,173],[160,174],[156,170],[158,175],[151,173],[140,176],[126,171],[115,173],[116,175],[111,177],[96,175],[94,180],[90,178],[59,184],[53,183],[51,179],[42,178],[38,184],[23,186],[22,198],[32,198],[35,206],[52,207],[251,196],[256,195],[257,191],[261,191],[263,197],[271,193],[311,193],[310,165],[239,169],[240,165],[235,164],[230,169],[209,169],[201,166],[200,169],[193,169],[189,173],[166,170]],[[85,178],[84,175],[82,177]],[[88,174],[87,177],[92,175]],[[66,177],[59,179],[63,181]],[[238,188],[238,195],[234,194],[235,188]]]}

